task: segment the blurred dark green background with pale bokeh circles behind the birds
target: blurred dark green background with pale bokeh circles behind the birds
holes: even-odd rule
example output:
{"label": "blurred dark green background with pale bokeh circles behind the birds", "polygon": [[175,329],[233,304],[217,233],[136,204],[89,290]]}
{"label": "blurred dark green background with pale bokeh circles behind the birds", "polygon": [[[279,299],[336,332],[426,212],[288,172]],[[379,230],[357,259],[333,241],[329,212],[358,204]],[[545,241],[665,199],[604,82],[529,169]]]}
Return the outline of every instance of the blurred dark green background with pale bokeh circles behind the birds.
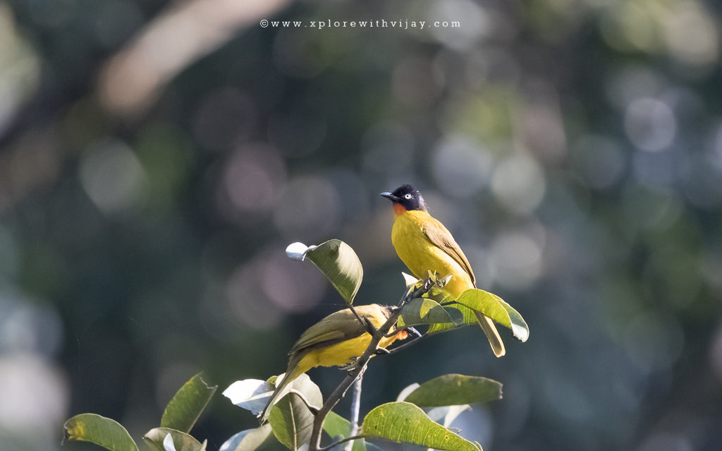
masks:
{"label": "blurred dark green background with pale bokeh circles behind the birds", "polygon": [[[456,372],[504,384],[456,424],[487,451],[718,450],[721,14],[0,1],[0,449],[56,449],[82,412],[139,438],[196,372],[223,390],[284,371],[342,306],[292,241],[347,241],[358,301],[395,302],[378,193],[411,182],[531,337],[502,331],[497,360],[467,327],[378,358],[362,411]],[[216,450],[256,424],[217,395],[193,435]]]}

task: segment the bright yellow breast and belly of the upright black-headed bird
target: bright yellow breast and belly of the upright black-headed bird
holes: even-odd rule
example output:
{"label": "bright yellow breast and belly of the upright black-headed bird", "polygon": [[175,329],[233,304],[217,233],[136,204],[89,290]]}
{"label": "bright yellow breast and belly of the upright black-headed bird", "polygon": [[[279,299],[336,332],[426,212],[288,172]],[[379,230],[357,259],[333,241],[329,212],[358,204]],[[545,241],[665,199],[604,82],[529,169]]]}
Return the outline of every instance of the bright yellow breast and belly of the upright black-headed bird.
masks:
{"label": "bright yellow breast and belly of the upright black-headed bird", "polygon": [[422,230],[422,221],[429,218],[428,213],[410,210],[396,216],[391,228],[391,244],[404,265],[419,279],[427,272],[438,272],[440,276],[453,274],[446,290],[458,296],[469,288],[474,288],[469,273],[456,260],[427,239]]}

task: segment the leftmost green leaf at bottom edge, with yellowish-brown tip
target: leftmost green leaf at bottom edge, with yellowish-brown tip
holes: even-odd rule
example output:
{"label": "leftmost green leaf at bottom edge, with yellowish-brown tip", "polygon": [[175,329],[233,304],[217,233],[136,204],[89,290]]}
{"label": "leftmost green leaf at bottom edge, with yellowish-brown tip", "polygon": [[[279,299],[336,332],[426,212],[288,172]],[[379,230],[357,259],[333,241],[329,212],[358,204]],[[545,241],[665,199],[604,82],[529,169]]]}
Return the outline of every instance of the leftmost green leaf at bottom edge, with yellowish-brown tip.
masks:
{"label": "leftmost green leaf at bottom edge, with yellowish-brown tip", "polygon": [[138,445],[118,421],[95,413],[76,415],[66,421],[63,427],[63,442],[79,440],[95,443],[110,451],[138,451]]}

